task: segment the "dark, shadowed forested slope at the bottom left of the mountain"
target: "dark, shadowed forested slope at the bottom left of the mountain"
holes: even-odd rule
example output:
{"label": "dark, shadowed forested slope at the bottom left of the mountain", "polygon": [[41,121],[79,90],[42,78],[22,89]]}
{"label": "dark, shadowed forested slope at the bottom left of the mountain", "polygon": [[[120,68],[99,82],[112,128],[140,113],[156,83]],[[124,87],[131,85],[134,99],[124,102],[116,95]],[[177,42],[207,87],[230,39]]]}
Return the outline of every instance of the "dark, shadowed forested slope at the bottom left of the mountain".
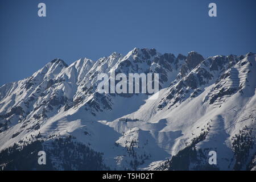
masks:
{"label": "dark, shadowed forested slope at the bottom left of the mountain", "polygon": [[[53,137],[53,136],[51,136]],[[38,135],[36,138],[40,138]],[[102,154],[93,151],[72,137],[36,139],[33,142],[14,144],[0,152],[0,170],[108,170]],[[46,152],[46,164],[38,164],[38,152]]]}

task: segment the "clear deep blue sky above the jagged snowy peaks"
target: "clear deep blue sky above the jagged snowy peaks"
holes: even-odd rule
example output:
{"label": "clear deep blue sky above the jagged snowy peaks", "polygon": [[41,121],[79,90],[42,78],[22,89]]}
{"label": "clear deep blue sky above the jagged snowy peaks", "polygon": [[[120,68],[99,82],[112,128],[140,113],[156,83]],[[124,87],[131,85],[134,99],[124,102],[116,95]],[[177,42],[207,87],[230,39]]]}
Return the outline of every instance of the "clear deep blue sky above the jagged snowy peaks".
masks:
{"label": "clear deep blue sky above the jagged snowy peaks", "polygon": [[[210,2],[217,18],[208,16]],[[55,57],[71,64],[134,47],[205,57],[256,52],[255,8],[255,0],[1,0],[0,85]]]}

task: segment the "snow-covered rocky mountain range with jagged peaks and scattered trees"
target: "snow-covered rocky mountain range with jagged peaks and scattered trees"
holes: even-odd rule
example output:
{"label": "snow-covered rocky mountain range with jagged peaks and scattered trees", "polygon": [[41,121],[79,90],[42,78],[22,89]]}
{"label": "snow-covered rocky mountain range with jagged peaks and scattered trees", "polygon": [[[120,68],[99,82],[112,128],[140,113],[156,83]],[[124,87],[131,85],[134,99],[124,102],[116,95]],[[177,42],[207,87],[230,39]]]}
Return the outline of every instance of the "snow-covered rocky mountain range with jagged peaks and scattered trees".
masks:
{"label": "snow-covered rocky mountain range with jagged peaks and scattered trees", "polygon": [[[99,93],[97,76],[113,72],[159,73],[158,98]],[[0,87],[0,169],[40,169],[38,150],[58,170],[255,169],[255,91],[254,53],[54,59]]]}

